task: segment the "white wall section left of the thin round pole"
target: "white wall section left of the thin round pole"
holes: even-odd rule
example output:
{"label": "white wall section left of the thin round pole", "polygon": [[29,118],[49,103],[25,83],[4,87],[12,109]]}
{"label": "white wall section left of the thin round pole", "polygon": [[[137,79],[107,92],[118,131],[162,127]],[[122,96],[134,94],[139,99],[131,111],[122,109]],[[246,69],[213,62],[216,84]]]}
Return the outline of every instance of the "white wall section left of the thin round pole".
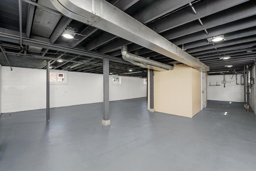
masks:
{"label": "white wall section left of the thin round pole", "polygon": [[2,113],[46,108],[46,71],[2,66]]}

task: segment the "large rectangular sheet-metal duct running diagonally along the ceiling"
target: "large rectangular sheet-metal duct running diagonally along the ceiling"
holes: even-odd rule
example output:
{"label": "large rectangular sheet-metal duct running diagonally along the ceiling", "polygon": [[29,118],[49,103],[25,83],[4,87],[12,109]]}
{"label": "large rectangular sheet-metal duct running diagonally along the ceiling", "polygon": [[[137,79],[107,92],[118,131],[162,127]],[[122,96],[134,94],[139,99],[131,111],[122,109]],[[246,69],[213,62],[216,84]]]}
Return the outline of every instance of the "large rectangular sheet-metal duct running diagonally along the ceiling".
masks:
{"label": "large rectangular sheet-metal duct running diagonally along the ceiling", "polygon": [[209,66],[104,0],[51,0],[51,2],[69,18],[144,46],[199,71],[209,71]]}

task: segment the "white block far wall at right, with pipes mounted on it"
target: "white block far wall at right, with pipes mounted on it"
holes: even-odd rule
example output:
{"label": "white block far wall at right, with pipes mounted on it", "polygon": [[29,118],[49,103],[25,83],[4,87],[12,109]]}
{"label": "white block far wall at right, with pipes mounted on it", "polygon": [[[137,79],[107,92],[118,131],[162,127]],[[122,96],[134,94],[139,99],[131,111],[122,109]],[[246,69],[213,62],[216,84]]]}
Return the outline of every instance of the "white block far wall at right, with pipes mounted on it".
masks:
{"label": "white block far wall at right, with pipes mounted on it", "polygon": [[[218,100],[218,101],[234,101],[234,102],[244,102],[244,85],[236,84],[236,75],[226,75],[226,81],[232,81],[232,83],[224,84],[222,83],[224,75],[208,76],[207,78],[207,99],[208,100]],[[237,82],[240,84],[241,75],[237,75]],[[216,85],[218,86],[210,86]],[[243,77],[242,77],[242,83]]]}

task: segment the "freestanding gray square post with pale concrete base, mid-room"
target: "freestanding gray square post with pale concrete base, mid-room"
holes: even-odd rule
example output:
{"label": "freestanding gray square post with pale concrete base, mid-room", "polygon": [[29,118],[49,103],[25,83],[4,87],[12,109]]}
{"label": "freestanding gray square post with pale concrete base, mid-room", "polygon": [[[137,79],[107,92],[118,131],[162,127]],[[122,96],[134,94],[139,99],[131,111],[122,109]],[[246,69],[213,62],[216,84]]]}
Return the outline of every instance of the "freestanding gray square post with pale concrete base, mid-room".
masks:
{"label": "freestanding gray square post with pale concrete base, mid-room", "polygon": [[110,125],[109,119],[109,59],[103,59],[103,119],[102,125]]}

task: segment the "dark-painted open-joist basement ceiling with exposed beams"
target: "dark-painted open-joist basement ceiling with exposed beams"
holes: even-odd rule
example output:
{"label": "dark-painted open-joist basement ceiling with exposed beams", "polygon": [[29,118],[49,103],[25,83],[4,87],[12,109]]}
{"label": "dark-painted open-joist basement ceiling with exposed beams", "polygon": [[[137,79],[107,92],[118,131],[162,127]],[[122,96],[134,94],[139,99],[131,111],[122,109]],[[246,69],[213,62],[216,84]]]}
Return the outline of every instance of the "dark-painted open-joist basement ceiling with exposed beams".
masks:
{"label": "dark-painted open-joist basement ceiling with exposed beams", "polygon": [[[144,68],[122,60],[120,48],[124,45],[132,54],[164,64],[180,64],[133,42],[67,18],[56,11],[50,0],[32,1],[39,5],[28,2],[22,1],[22,48],[18,40],[18,0],[0,0],[0,45],[11,66],[44,69],[48,59],[56,70],[102,74],[102,58],[110,58],[110,73],[145,77]],[[210,72],[240,72],[244,65],[252,66],[256,60],[255,0],[108,2],[210,66]],[[61,36],[66,26],[76,28],[78,34],[74,39]],[[220,42],[207,39],[220,35],[224,36]],[[231,58],[220,59],[227,56]],[[64,62],[56,62],[56,58]],[[3,52],[0,64],[9,66]],[[232,67],[226,67],[229,65]]]}

